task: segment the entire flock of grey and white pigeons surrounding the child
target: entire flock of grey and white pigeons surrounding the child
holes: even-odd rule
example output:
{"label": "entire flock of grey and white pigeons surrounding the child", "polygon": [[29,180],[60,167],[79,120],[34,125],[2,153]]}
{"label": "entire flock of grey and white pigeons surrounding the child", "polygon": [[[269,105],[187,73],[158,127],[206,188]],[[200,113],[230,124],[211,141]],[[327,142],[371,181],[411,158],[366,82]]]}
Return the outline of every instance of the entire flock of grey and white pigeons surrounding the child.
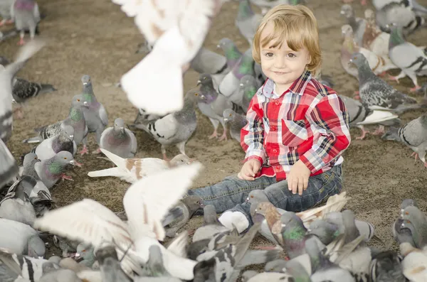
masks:
{"label": "entire flock of grey and white pigeons surrounding the child", "polygon": [[[0,281],[224,282],[237,281],[239,277],[251,282],[427,281],[424,250],[427,217],[414,200],[402,202],[401,215],[392,226],[400,245],[398,254],[367,246],[369,240],[379,239],[374,236],[372,224],[355,219],[350,210],[343,210],[350,199],[345,192],[330,197],[321,207],[294,213],[274,207],[262,190],[253,190],[247,201],[251,202],[255,224],[245,234],[223,227],[214,206],[204,206],[200,197],[186,196],[186,190],[202,169],[201,163],[185,153],[186,141],[196,130],[196,108],[209,117],[214,127],[210,138],[218,137],[221,124],[223,134],[218,139],[227,139],[228,122],[231,137],[240,141],[240,130],[246,124],[244,114],[265,76],[260,65],[253,61],[251,50],[241,52],[228,38],[218,43],[224,55],[201,48],[211,17],[221,9],[221,0],[176,0],[164,2],[164,6],[157,6],[157,1],[114,2],[122,5],[128,16],[135,16],[149,48],[144,60],[120,82],[130,101],[139,108],[137,119],[129,127],[147,131],[157,140],[162,146],[163,159],[134,158],[135,134],[125,128],[120,118],[107,128],[107,110],[97,102],[90,77],[83,75],[82,93],[71,99],[68,116],[36,129],[37,136],[24,140],[39,144],[23,157],[23,166],[18,168],[5,144],[12,131],[12,102],[21,104],[55,88],[16,77],[26,61],[43,48],[43,40],[34,38],[26,43],[12,63],[2,60]],[[28,26],[17,24],[16,28],[23,32],[28,29],[33,37],[39,21],[35,16],[38,6],[33,0],[9,3],[0,1],[0,8],[9,5],[9,8],[31,12],[12,13],[8,18],[0,9],[3,16],[0,25],[13,21],[27,23]],[[21,4],[16,6],[16,3]],[[300,1],[253,0],[253,4],[270,9],[277,4],[300,4]],[[239,0],[238,5],[236,26],[251,44],[262,16],[253,12],[248,0]],[[425,50],[406,42],[404,36],[424,25],[427,10],[415,1],[374,0],[374,6],[376,15],[367,9],[365,18],[355,17],[349,4],[342,6],[341,13],[348,21],[342,26],[342,67],[359,80],[360,101],[342,96],[349,110],[350,125],[362,129],[363,139],[367,133],[364,125],[379,124],[377,133],[383,134],[384,139],[405,143],[427,166],[426,114],[401,128],[392,126],[384,132],[382,127],[399,124],[398,114],[408,109],[427,107],[426,100],[417,102],[377,76],[400,68],[401,74],[394,79],[407,75],[413,80],[414,91],[422,92],[426,88],[419,87],[416,81],[417,75],[427,74]],[[194,9],[200,7],[204,8],[203,12],[194,16]],[[147,11],[152,12],[151,16],[147,16]],[[172,17],[184,15],[179,17],[183,26],[188,26],[194,16],[191,34],[184,34],[172,23],[169,23],[172,26],[160,24],[164,11]],[[159,26],[157,29],[151,26],[149,30],[147,24],[154,20]],[[170,40],[174,40],[174,45]],[[162,59],[159,58],[161,51]],[[136,94],[142,81],[149,80],[148,88],[158,83],[158,70],[166,63],[170,71],[166,75],[174,79],[164,87],[169,92],[162,99],[162,105],[158,100],[147,101],[147,95]],[[153,65],[157,68],[152,68],[150,75],[142,75]],[[189,90],[182,99],[179,92],[182,75],[189,67],[200,73],[200,87]],[[162,73],[162,77],[164,75]],[[319,75],[318,78],[325,85],[333,86],[330,77]],[[168,95],[172,95],[172,99],[168,99]],[[166,100],[167,103],[163,103]],[[18,109],[21,112],[21,108]],[[93,153],[104,153],[116,166],[88,175],[115,176],[132,183],[123,198],[124,212],[112,212],[90,199],[51,210],[51,188],[61,178],[70,180],[65,175],[69,165],[81,165],[74,156],[80,143],[83,143],[80,154],[88,153],[89,133],[96,134],[99,146]],[[180,152],[170,161],[166,154],[168,146],[177,146]],[[191,232],[181,231],[201,209],[204,225]],[[261,234],[275,247],[248,249],[256,234]],[[62,249],[63,257],[44,259],[45,242],[51,235]],[[167,238],[172,239],[167,244],[160,243]],[[280,259],[283,254],[286,259]],[[246,266],[259,264],[265,264],[260,273],[243,271]]]}

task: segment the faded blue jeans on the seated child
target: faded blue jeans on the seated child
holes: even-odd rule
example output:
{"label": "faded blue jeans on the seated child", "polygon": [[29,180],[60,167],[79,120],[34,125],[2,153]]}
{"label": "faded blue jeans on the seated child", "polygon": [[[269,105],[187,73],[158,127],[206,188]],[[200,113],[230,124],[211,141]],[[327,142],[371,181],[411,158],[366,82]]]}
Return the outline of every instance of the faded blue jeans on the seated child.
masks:
{"label": "faded blue jeans on the seated child", "polygon": [[226,210],[242,212],[249,222],[251,219],[251,204],[245,202],[251,190],[264,190],[268,200],[283,210],[301,212],[317,205],[324,204],[328,197],[338,194],[342,189],[341,165],[334,166],[325,173],[310,176],[307,190],[302,195],[292,194],[288,190],[288,181],[276,182],[275,177],[262,176],[253,181],[241,180],[237,175],[231,175],[219,183],[204,188],[191,189],[187,195],[196,195],[204,200],[204,205],[214,205],[216,212]]}

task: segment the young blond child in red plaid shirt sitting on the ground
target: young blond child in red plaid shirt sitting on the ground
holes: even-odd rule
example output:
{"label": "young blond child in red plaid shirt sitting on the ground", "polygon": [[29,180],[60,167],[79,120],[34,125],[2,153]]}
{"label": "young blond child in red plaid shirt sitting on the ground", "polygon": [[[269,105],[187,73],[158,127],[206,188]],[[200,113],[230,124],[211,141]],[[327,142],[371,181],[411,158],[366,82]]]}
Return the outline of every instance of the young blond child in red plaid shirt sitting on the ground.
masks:
{"label": "young blond child in red plaid shirt sitting on the ground", "polygon": [[339,193],[341,155],[350,143],[344,103],[312,77],[321,52],[310,9],[279,5],[268,11],[253,38],[253,58],[268,80],[253,97],[241,131],[246,162],[238,175],[188,192],[226,211],[219,221],[239,232],[252,224],[245,202],[251,190],[264,190],[275,207],[292,212]]}

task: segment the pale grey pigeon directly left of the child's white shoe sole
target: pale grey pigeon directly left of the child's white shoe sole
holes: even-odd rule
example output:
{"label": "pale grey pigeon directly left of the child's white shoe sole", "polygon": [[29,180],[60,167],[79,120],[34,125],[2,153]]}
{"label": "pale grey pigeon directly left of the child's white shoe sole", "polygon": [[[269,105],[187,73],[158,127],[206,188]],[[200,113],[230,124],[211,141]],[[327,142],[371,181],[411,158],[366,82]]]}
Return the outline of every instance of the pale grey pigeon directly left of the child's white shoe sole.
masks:
{"label": "pale grey pigeon directly left of the child's white shoe sole", "polygon": [[198,242],[204,239],[209,239],[216,233],[230,231],[224,227],[216,216],[216,208],[214,205],[206,205],[203,208],[204,225],[196,229],[193,235],[192,242]]}

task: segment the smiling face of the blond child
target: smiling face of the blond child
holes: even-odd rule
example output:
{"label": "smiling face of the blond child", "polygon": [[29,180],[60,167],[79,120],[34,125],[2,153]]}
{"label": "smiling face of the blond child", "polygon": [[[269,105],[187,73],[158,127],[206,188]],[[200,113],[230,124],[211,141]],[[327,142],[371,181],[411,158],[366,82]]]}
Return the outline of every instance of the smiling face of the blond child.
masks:
{"label": "smiling face of the blond child", "polygon": [[[273,23],[268,23],[261,33],[260,41],[271,33]],[[282,94],[302,75],[305,65],[310,63],[310,54],[305,47],[297,51],[290,49],[286,40],[280,48],[270,45],[273,45],[273,42],[264,47],[260,45],[261,68],[264,74],[275,82],[277,94]]]}

